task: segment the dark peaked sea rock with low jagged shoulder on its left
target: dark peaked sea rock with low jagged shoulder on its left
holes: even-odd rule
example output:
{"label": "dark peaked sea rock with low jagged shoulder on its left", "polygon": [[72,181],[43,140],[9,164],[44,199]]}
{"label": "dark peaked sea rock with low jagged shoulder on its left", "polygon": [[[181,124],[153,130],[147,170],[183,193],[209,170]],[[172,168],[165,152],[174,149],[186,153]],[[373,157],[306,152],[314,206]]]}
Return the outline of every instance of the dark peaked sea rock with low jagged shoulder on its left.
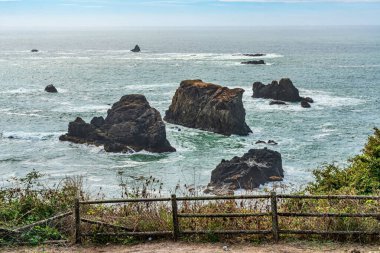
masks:
{"label": "dark peaked sea rock with low jagged shoulder on its left", "polygon": [[107,117],[95,117],[91,123],[77,118],[69,123],[61,141],[104,145],[107,152],[174,152],[166,139],[160,113],[150,107],[143,95],[126,95],[108,110]]}

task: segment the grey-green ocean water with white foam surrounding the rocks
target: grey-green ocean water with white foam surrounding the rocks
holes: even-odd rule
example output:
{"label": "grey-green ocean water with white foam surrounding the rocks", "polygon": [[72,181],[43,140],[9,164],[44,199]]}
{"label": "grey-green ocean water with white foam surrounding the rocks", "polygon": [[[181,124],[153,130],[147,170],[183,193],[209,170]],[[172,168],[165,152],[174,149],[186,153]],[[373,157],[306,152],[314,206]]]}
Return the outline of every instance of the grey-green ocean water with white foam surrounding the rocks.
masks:
{"label": "grey-green ocean water with white foam surrounding the rocks", "polygon": [[[139,44],[142,52],[129,50]],[[37,48],[39,53],[31,53]],[[242,65],[242,53],[266,53],[266,65]],[[289,77],[315,100],[269,106],[252,83]],[[185,79],[245,89],[253,134],[225,137],[167,124],[171,154],[110,154],[60,142],[69,121],[105,116],[121,96],[144,94],[164,116]],[[44,87],[54,84],[59,93]],[[45,183],[82,175],[88,189],[119,194],[118,174],[153,176],[170,193],[177,184],[206,186],[222,159],[273,139],[284,184],[302,187],[325,162],[344,164],[380,126],[380,27],[145,28],[107,31],[0,31],[0,184],[32,169]],[[132,185],[133,183],[130,182]]]}

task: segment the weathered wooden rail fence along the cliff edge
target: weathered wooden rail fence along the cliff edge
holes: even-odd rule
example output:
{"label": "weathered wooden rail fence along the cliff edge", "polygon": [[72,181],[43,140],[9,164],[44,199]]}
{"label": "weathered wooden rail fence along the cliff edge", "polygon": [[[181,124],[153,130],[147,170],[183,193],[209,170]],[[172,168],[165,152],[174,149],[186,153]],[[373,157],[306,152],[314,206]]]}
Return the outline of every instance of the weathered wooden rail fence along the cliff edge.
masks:
{"label": "weathered wooden rail fence along the cliff edge", "polygon": [[[211,200],[270,200],[270,211],[261,213],[179,213],[178,203],[183,201],[211,201]],[[359,218],[376,218],[380,221],[380,213],[301,213],[301,212],[278,212],[278,202],[284,199],[328,199],[328,200],[377,200],[380,196],[343,196],[343,195],[286,195],[272,192],[270,195],[242,195],[242,196],[203,196],[203,197],[177,197],[172,195],[170,198],[145,198],[145,199],[112,199],[99,201],[80,201],[76,199],[74,208],[75,218],[75,242],[81,243],[83,237],[89,236],[173,236],[178,240],[181,235],[191,234],[261,234],[272,235],[273,241],[278,242],[281,234],[318,234],[318,235],[380,235],[380,231],[323,231],[323,230],[284,230],[279,227],[279,217],[359,217]],[[113,204],[113,203],[146,203],[146,202],[168,202],[171,203],[173,227],[171,231],[151,231],[136,232],[130,228],[93,221],[81,217],[81,206],[94,204]],[[181,230],[180,219],[186,218],[237,218],[237,217],[270,217],[272,228],[270,230]],[[102,225],[110,228],[120,229],[122,233],[83,233],[81,232],[81,223],[90,223]]]}

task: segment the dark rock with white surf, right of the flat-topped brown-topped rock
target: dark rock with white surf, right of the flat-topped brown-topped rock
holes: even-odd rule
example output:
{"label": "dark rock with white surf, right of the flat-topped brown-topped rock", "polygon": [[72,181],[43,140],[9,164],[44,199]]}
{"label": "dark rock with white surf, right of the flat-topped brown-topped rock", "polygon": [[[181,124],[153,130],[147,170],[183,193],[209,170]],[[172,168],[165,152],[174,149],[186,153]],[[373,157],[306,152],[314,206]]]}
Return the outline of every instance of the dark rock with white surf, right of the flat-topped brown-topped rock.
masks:
{"label": "dark rock with white surf, right of the flat-topped brown-topped rock", "polygon": [[273,81],[268,85],[261,82],[255,82],[252,86],[254,98],[270,98],[274,100],[299,102],[302,98],[299,91],[294,87],[289,78],[283,78],[280,82]]}

